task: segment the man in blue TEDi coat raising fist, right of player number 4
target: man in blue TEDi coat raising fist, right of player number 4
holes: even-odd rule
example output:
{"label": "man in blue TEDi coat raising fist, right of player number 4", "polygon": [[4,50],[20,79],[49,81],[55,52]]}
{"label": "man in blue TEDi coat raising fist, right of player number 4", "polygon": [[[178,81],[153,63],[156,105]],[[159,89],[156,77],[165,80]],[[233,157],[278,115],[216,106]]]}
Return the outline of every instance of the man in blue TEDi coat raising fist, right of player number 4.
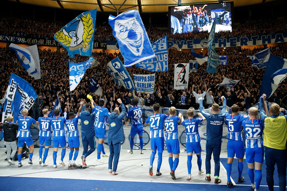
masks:
{"label": "man in blue TEDi coat raising fist, right of player number 4", "polygon": [[[108,129],[108,145],[110,147],[110,157],[108,159],[108,172],[117,175],[117,167],[121,151],[121,141],[125,140],[123,119],[127,115],[125,105],[121,99],[117,100],[121,104],[121,114],[119,108],[115,108],[114,112],[110,114],[108,122],[110,127]],[[115,156],[115,158],[114,158]],[[114,168],[112,170],[112,163],[114,160]]]}

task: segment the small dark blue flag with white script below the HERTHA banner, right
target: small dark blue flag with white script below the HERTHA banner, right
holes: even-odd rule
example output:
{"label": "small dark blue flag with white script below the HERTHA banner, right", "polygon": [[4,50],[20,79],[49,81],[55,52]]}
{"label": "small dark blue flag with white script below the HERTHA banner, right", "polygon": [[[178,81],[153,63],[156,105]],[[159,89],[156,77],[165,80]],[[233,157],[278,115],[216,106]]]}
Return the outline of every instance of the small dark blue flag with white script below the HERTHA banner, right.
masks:
{"label": "small dark blue flag with white script below the HERTHA banner, right", "polygon": [[252,66],[256,66],[258,69],[260,69],[268,65],[270,54],[270,48],[267,48],[254,54],[253,56],[247,56],[247,58],[251,59]]}

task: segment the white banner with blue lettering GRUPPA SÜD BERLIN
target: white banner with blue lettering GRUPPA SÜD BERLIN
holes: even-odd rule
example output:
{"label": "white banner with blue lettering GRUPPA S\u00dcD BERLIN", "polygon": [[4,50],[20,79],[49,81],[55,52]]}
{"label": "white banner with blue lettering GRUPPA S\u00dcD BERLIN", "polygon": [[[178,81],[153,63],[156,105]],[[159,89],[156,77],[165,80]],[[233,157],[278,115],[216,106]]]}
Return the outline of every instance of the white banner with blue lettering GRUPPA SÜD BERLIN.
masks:
{"label": "white banner with blue lettering GRUPPA S\u00dcD BERLIN", "polygon": [[137,90],[137,93],[154,93],[155,74],[133,74],[133,81],[135,82],[135,89]]}

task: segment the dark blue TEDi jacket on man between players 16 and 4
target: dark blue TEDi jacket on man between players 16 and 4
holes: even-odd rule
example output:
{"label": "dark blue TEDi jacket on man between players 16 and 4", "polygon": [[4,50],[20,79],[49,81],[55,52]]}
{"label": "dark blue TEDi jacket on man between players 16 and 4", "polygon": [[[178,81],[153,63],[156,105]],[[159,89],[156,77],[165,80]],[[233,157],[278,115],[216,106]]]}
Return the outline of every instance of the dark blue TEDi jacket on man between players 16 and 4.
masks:
{"label": "dark blue TEDi jacket on man between players 16 and 4", "polygon": [[83,111],[80,113],[79,119],[81,119],[82,139],[94,137],[96,135],[94,129],[94,113],[91,114],[89,111]]}

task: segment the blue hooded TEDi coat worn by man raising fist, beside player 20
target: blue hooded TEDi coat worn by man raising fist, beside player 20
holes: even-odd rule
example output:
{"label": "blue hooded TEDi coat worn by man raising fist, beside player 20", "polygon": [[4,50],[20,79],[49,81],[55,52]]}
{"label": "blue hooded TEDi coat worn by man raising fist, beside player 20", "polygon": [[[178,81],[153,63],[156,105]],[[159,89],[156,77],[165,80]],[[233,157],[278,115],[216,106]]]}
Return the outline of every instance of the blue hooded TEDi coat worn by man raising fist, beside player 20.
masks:
{"label": "blue hooded TEDi coat worn by man raising fist, beside player 20", "polygon": [[121,103],[122,112],[120,115],[113,112],[108,118],[110,127],[108,129],[108,144],[113,141],[113,144],[117,144],[125,140],[124,129],[123,129],[123,119],[127,115],[125,105]]}

